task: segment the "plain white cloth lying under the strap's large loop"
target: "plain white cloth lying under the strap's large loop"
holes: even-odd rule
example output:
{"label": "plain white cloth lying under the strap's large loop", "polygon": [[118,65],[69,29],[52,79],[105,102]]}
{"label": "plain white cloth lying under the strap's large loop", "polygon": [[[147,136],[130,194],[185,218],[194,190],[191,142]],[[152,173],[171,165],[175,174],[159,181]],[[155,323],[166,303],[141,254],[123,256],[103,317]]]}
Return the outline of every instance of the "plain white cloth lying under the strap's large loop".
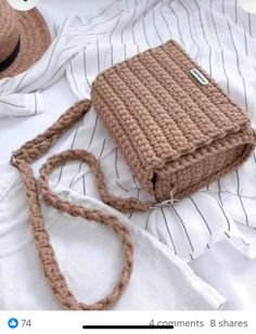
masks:
{"label": "plain white cloth lying under the strap's large loop", "polygon": [[[47,284],[29,227],[28,208],[17,170],[1,165],[0,309],[62,309]],[[115,310],[219,309],[225,303],[213,287],[153,236],[120,213],[68,189],[67,201],[115,215],[135,246],[132,275]],[[94,303],[113,288],[121,268],[121,243],[108,228],[62,215],[42,204],[61,269],[78,300]]]}

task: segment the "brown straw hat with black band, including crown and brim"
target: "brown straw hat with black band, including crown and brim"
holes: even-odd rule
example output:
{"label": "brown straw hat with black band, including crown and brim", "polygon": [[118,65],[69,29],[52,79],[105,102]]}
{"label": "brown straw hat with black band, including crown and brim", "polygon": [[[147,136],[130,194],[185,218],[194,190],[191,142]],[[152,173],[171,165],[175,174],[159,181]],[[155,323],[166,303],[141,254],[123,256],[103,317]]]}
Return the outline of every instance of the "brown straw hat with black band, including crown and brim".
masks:
{"label": "brown straw hat with black band, including crown and brim", "polygon": [[30,67],[50,42],[49,29],[37,9],[20,12],[0,0],[0,79]]}

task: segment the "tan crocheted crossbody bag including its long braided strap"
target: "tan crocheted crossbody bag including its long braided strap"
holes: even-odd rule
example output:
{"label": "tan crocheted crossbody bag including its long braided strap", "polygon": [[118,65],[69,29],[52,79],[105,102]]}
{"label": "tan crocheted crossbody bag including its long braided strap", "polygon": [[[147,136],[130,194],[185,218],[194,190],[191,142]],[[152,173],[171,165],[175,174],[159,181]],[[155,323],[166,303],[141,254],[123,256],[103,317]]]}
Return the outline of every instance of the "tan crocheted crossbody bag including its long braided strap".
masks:
{"label": "tan crocheted crossbody bag including its long braided strap", "polygon": [[[93,82],[92,101],[71,107],[47,131],[25,143],[11,159],[22,172],[31,229],[46,278],[68,309],[100,310],[116,303],[132,269],[128,230],[99,209],[57,197],[48,185],[49,175],[67,160],[89,164],[102,200],[118,210],[146,210],[171,205],[241,165],[253,152],[255,131],[248,116],[174,41],[121,62],[101,73]],[[101,167],[85,150],[68,150],[48,158],[40,169],[44,201],[72,216],[106,224],[121,239],[124,266],[108,296],[92,305],[77,301],[59,267],[40,209],[38,184],[30,164],[93,104],[141,185],[155,202],[119,198],[107,192]]]}

